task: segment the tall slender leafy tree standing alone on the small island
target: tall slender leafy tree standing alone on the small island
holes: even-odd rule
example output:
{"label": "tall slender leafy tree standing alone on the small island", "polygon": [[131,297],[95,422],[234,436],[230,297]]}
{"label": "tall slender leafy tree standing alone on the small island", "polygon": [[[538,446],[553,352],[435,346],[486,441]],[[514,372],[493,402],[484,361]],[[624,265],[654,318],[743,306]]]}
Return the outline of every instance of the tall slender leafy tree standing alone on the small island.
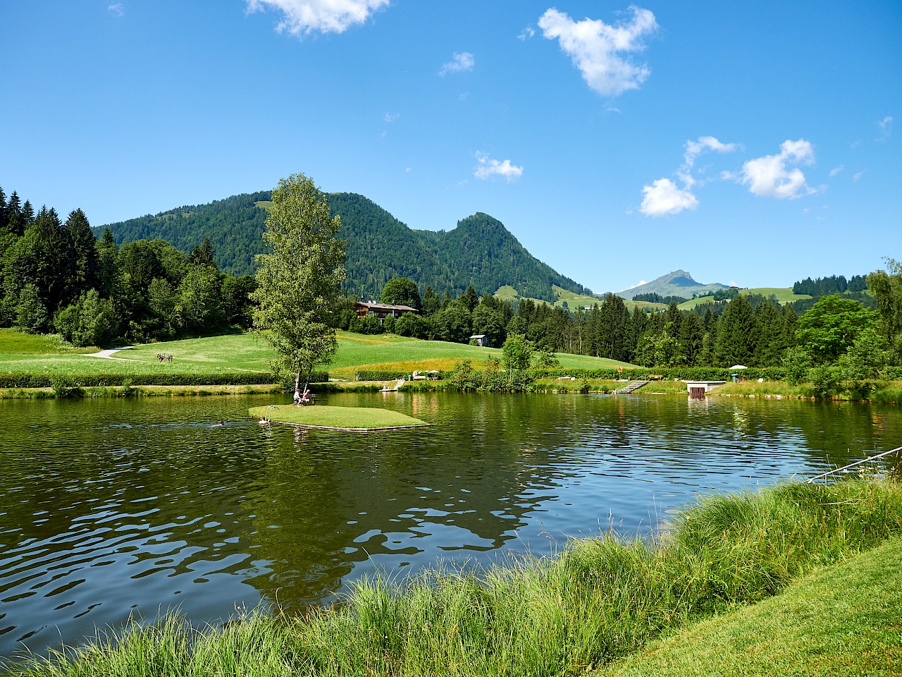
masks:
{"label": "tall slender leafy tree standing alone on the small island", "polygon": [[263,233],[272,251],[257,255],[253,328],[276,352],[275,374],[294,376],[296,392],[301,377],[308,382],[338,348],[333,311],[342,299],[346,244],[336,239],[340,227],[326,196],[304,174],[281,179],[272,191]]}

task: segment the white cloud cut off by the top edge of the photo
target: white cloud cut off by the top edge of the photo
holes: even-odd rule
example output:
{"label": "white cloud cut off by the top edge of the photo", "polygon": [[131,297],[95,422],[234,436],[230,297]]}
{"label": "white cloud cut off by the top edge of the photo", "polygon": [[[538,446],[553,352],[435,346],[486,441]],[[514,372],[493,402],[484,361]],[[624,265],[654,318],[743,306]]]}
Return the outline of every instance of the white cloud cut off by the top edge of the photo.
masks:
{"label": "white cloud cut off by the top edge of the photo", "polygon": [[364,23],[373,12],[387,7],[389,0],[245,0],[248,12],[274,9],[282,14],[276,31],[292,35],[311,32],[345,32]]}

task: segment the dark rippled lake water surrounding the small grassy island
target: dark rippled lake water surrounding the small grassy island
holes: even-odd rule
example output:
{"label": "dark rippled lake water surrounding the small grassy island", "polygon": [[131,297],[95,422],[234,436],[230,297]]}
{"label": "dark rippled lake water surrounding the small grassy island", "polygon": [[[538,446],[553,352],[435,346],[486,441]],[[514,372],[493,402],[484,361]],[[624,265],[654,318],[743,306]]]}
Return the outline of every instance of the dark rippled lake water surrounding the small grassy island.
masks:
{"label": "dark rippled lake water surrounding the small grassy island", "polygon": [[865,404],[323,399],[434,425],[268,433],[247,408],[272,395],[0,401],[0,655],[78,643],[130,614],[219,622],[236,605],[335,599],[377,570],[648,533],[696,494],[814,475],[902,439],[902,411]]}

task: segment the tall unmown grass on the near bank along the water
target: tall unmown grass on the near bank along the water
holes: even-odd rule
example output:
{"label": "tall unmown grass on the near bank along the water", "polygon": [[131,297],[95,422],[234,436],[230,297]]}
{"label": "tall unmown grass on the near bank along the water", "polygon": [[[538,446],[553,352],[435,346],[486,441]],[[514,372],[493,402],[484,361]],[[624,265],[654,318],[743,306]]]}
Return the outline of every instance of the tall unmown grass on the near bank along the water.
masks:
{"label": "tall unmown grass on the near bank along the water", "polygon": [[651,543],[609,536],[477,573],[365,581],[345,604],[303,617],[253,613],[203,630],[167,617],[14,673],[581,674],[899,533],[895,481],[787,484],[705,498]]}

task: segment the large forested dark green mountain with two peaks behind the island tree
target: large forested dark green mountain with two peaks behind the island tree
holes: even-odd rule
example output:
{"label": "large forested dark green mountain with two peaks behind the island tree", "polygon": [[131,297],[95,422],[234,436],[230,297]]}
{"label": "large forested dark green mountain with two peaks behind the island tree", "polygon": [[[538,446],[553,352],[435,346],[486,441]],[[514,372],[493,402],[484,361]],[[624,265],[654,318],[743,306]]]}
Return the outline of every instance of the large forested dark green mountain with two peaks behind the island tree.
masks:
{"label": "large forested dark green mountain with two peaks behind the island tree", "polygon": [[[583,285],[557,273],[520,245],[501,221],[476,213],[452,230],[414,230],[371,199],[331,193],[329,209],[342,220],[347,239],[345,289],[375,298],[392,277],[407,277],[421,290],[492,293],[504,284],[520,295],[555,301],[552,285],[583,293]],[[231,274],[252,274],[253,256],[263,251],[268,191],[245,193],[205,205],[170,209],[156,215],[109,224],[117,244],[161,237],[183,252],[209,237],[216,264]],[[105,227],[97,227],[97,234]]]}

